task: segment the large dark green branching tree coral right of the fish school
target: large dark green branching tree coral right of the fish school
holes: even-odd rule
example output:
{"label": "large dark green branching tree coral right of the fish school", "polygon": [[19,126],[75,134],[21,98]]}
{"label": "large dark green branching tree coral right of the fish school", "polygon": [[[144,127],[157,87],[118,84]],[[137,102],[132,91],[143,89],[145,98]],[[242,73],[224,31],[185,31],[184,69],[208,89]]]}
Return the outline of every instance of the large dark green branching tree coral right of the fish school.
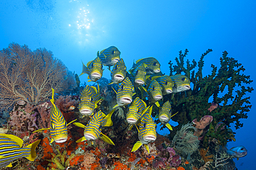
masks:
{"label": "large dark green branching tree coral right of the fish school", "polygon": [[[175,61],[177,65],[173,65],[170,62],[170,75],[185,74],[190,78],[193,84],[193,89],[186,92],[175,94],[174,98],[171,95],[166,98],[172,101],[172,112],[179,114],[172,119],[179,122],[179,127],[197,118],[200,120],[205,115],[211,115],[214,117],[210,125],[210,131],[206,135],[204,145],[208,144],[210,138],[216,138],[221,145],[226,145],[231,138],[234,138],[234,132],[228,131],[230,123],[235,123],[235,128],[239,129],[243,124],[240,123],[240,118],[247,118],[246,112],[251,108],[250,97],[244,98],[244,95],[248,92],[252,92],[252,87],[245,87],[245,84],[250,84],[253,81],[250,80],[250,76],[241,74],[244,72],[244,67],[237,60],[228,57],[228,52],[223,52],[220,58],[221,67],[217,70],[217,67],[211,65],[212,73],[203,77],[203,58],[212,50],[207,50],[202,54],[198,63],[194,60],[192,64],[187,61],[187,66],[184,67],[184,58],[188,54],[188,50],[185,53],[180,52],[179,59]],[[196,67],[198,71],[195,72]],[[191,74],[190,74],[191,73]],[[227,91],[227,92],[226,92]],[[223,93],[226,93],[223,95]],[[214,103],[220,105],[213,111],[208,111],[210,103],[209,98],[212,97]],[[165,99],[165,100],[166,100]],[[226,128],[224,130],[215,129],[217,123],[224,123]]]}

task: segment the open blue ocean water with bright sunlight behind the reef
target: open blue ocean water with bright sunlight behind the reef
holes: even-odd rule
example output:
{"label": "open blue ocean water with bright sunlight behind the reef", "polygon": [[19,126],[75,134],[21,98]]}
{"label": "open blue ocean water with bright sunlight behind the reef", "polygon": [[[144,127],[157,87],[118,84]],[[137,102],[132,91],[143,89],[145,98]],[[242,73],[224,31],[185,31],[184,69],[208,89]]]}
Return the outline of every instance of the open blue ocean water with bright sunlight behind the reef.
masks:
{"label": "open blue ocean water with bright sunlight behind the reef", "polygon": [[[68,70],[80,74],[82,61],[111,45],[118,47],[129,70],[134,61],[154,56],[161,71],[169,74],[168,62],[175,63],[179,51],[189,50],[186,59],[205,56],[203,76],[218,66],[223,51],[244,65],[244,74],[254,81],[256,50],[256,1],[82,1],[82,0],[1,0],[0,49],[9,43],[45,47]],[[104,77],[110,72],[104,67]],[[81,83],[87,76],[80,76]],[[87,83],[89,84],[89,83]],[[255,92],[248,94],[253,105],[244,127],[232,130],[236,142],[228,149],[244,145],[248,155],[235,160],[239,170],[255,169]],[[212,101],[209,101],[212,102]],[[169,131],[159,131],[167,134]]]}

